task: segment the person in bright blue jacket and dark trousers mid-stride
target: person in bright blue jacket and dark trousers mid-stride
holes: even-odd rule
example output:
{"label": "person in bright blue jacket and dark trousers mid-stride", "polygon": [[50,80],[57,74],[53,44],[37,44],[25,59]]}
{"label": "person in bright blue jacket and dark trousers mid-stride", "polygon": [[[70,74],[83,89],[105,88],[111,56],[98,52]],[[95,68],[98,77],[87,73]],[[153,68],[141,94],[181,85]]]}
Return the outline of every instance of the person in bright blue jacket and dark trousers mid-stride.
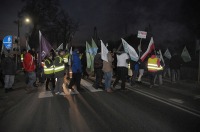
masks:
{"label": "person in bright blue jacket and dark trousers mid-stride", "polygon": [[82,75],[82,65],[79,57],[79,51],[78,49],[74,49],[72,53],[72,79],[68,86],[69,89],[72,89],[72,86],[76,85],[77,90],[78,91],[81,90],[80,87],[81,75]]}

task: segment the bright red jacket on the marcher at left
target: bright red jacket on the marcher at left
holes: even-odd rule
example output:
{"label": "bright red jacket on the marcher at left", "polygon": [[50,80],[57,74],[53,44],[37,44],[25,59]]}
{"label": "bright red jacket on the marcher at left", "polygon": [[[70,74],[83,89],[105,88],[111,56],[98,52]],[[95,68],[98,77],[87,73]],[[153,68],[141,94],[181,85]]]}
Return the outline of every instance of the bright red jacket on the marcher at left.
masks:
{"label": "bright red jacket on the marcher at left", "polygon": [[27,72],[35,71],[35,61],[33,56],[30,53],[26,53],[23,60],[24,70]]}

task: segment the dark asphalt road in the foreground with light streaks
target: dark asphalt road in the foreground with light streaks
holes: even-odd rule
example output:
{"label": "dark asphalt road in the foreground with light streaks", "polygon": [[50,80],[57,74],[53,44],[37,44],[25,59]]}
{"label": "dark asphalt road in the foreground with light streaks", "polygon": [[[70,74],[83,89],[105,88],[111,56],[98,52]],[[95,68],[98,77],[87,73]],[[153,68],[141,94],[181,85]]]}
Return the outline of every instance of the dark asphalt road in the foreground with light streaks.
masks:
{"label": "dark asphalt road in the foreground with light streaks", "polygon": [[200,132],[199,116],[132,90],[63,96],[40,87],[12,97],[0,132]]}

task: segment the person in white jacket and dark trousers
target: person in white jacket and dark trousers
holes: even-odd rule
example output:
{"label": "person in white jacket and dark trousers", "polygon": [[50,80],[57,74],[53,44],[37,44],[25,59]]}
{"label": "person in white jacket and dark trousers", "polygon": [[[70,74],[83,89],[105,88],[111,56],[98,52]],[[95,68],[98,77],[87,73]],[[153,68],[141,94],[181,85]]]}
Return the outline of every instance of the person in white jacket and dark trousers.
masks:
{"label": "person in white jacket and dark trousers", "polygon": [[119,52],[117,53],[117,76],[113,83],[113,88],[117,85],[119,80],[121,80],[121,90],[125,89],[125,82],[128,75],[128,62],[129,56],[127,53]]}

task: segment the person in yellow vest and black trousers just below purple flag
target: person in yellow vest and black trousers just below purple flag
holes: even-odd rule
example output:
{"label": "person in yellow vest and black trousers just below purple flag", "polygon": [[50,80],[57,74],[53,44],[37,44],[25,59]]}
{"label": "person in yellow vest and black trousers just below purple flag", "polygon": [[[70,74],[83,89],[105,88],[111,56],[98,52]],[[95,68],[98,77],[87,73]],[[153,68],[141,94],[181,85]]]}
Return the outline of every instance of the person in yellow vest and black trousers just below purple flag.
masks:
{"label": "person in yellow vest and black trousers just below purple flag", "polygon": [[54,64],[52,60],[52,55],[46,56],[44,61],[44,75],[46,79],[46,90],[49,89],[49,82],[52,83],[52,91],[55,89],[55,78],[54,78]]}

